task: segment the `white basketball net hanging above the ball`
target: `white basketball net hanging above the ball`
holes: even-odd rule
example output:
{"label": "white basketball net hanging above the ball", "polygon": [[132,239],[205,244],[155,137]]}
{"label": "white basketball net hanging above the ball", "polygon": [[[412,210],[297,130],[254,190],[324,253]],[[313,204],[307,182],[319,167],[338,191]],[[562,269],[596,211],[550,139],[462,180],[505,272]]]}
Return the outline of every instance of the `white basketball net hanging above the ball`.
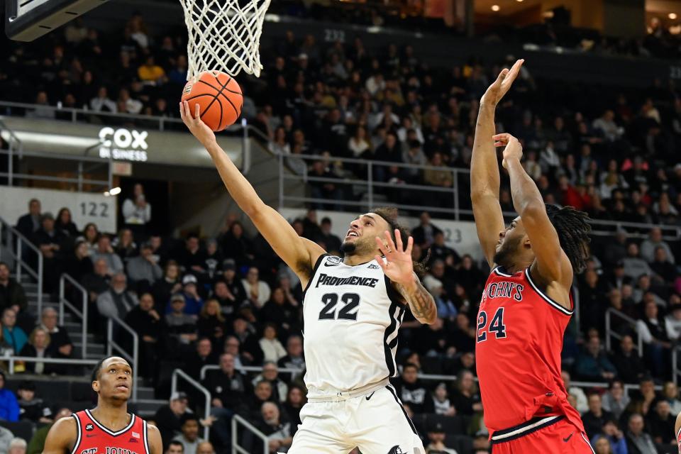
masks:
{"label": "white basketball net hanging above the ball", "polygon": [[187,80],[204,71],[260,76],[260,34],[270,0],[179,0],[189,31]]}

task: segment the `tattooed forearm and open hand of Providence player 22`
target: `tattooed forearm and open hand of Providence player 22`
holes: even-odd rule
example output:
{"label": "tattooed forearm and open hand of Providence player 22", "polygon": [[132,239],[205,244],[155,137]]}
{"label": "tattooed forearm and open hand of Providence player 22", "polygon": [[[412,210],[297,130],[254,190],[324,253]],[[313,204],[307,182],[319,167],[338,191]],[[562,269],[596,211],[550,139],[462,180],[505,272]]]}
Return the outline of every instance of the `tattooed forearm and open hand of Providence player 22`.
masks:
{"label": "tattooed forearm and open hand of Providence player 22", "polygon": [[402,243],[402,235],[395,229],[395,242],[390,233],[385,232],[387,245],[383,244],[381,238],[376,237],[376,244],[385,257],[383,262],[380,256],[376,256],[376,262],[383,269],[385,275],[402,295],[404,301],[409,304],[411,314],[414,319],[421,323],[431,324],[438,318],[438,306],[435,304],[433,296],[423,287],[419,277],[414,272],[414,262],[411,261],[411,248],[414,246],[414,237],[406,240],[406,249]]}

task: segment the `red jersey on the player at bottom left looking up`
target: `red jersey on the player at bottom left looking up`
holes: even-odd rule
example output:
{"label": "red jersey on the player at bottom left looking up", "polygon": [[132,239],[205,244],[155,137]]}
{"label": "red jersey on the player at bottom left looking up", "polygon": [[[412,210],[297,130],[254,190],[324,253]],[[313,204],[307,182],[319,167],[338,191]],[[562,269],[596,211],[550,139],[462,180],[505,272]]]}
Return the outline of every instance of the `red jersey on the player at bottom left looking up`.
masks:
{"label": "red jersey on the player at bottom left looking up", "polygon": [[74,413],[73,417],[78,437],[72,454],[151,454],[147,423],[134,414],[128,426],[118,432],[102,426],[89,410]]}

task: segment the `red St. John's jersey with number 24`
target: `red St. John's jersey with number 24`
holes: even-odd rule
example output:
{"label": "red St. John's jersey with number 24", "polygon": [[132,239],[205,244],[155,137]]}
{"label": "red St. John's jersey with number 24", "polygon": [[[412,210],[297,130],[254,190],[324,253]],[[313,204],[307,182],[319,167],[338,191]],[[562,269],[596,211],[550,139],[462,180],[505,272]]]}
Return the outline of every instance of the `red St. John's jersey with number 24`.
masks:
{"label": "red St. John's jersey with number 24", "polygon": [[557,420],[550,416],[562,416],[584,431],[560,377],[571,315],[536,287],[529,268],[509,275],[496,267],[489,274],[477,314],[475,357],[492,440],[494,431],[514,428],[520,435],[526,427]]}

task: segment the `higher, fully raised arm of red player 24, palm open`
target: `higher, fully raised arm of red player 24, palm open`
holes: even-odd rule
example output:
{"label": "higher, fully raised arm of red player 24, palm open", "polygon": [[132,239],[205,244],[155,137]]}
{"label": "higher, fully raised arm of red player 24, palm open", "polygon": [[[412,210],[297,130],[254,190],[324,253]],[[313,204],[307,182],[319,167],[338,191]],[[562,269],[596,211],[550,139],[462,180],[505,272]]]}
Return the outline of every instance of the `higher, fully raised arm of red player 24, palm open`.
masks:
{"label": "higher, fully raised arm of red player 24, palm open", "polygon": [[499,163],[494,148],[494,110],[511,88],[525,60],[515,62],[510,70],[502,70],[480,100],[477,113],[473,154],[470,161],[470,198],[475,216],[477,236],[487,263],[492,267],[499,233],[504,230],[504,216],[499,205]]}

